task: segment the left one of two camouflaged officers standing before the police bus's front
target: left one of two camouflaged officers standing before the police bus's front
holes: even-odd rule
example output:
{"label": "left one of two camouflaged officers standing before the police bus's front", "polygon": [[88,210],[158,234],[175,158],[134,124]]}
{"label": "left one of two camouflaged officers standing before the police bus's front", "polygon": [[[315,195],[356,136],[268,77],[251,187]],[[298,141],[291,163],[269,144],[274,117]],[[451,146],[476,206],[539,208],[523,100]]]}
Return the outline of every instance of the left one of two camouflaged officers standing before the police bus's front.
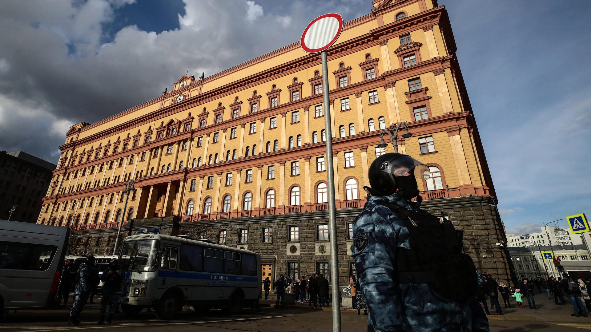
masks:
{"label": "left one of two camouflaged officers standing before the police bus's front", "polygon": [[80,325],[78,317],[86,304],[86,300],[88,300],[90,292],[96,288],[98,278],[99,272],[96,271],[95,256],[90,255],[86,258],[86,262],[80,263],[76,274],[77,284],[76,288],[74,288],[74,304],[70,311],[69,326]]}

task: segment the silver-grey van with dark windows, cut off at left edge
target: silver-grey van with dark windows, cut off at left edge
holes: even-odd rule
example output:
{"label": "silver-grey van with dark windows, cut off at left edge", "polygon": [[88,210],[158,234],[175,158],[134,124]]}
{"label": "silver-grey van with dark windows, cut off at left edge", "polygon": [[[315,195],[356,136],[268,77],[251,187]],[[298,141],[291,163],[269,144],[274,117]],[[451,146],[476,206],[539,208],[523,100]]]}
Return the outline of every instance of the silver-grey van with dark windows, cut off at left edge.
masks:
{"label": "silver-grey van with dark windows, cut off at left edge", "polygon": [[0,317],[53,307],[70,230],[0,220]]}

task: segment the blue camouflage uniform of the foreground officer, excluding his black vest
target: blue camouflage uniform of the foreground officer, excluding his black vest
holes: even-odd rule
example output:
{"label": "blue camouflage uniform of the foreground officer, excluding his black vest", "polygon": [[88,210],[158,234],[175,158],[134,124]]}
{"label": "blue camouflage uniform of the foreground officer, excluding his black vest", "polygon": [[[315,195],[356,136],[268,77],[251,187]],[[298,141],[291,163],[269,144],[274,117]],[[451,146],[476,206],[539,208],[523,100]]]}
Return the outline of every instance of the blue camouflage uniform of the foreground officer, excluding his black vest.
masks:
{"label": "blue camouflage uniform of the foreground officer, excluding his black vest", "polygon": [[380,203],[407,210],[419,205],[396,193],[368,196],[355,219],[352,256],[369,307],[368,331],[489,331],[476,298],[457,303],[434,293],[427,283],[397,282],[397,248],[411,249],[410,235],[405,223]]}

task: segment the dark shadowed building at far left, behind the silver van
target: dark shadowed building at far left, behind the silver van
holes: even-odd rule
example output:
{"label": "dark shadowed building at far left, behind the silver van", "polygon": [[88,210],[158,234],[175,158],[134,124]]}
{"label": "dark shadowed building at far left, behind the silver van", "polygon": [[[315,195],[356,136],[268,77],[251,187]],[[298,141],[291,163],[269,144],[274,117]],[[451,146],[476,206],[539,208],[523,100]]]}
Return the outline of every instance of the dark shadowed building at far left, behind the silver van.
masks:
{"label": "dark shadowed building at far left, behind the silver van", "polygon": [[55,169],[55,164],[26,152],[0,151],[0,219],[37,222]]}

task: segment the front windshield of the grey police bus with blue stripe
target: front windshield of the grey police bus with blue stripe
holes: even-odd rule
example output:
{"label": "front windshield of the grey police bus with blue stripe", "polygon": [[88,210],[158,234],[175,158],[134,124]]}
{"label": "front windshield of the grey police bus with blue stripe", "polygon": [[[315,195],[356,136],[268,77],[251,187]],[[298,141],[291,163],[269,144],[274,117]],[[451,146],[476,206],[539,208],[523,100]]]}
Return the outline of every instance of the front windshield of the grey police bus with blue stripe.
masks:
{"label": "front windshield of the grey police bus with blue stripe", "polygon": [[158,240],[125,241],[121,248],[121,269],[123,271],[156,271]]}

